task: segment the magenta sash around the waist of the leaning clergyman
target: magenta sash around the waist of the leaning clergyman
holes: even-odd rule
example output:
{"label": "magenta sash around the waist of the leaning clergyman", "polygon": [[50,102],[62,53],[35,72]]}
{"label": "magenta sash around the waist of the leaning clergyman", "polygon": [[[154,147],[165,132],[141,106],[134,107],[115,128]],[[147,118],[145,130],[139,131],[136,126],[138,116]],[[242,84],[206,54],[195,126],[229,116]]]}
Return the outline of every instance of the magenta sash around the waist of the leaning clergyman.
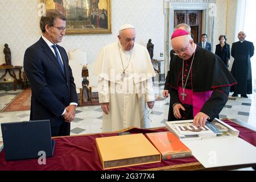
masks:
{"label": "magenta sash around the waist of the leaning clergyman", "polygon": [[179,86],[178,93],[179,93],[179,100],[181,104],[187,104],[187,105],[193,106],[193,117],[195,117],[196,114],[200,112],[204,103],[207,100],[209,100],[210,96],[212,96],[212,91],[195,93],[191,89],[185,89],[185,94],[187,94],[187,96],[185,96],[185,100],[183,101],[182,100],[183,89],[181,88],[181,86]]}

